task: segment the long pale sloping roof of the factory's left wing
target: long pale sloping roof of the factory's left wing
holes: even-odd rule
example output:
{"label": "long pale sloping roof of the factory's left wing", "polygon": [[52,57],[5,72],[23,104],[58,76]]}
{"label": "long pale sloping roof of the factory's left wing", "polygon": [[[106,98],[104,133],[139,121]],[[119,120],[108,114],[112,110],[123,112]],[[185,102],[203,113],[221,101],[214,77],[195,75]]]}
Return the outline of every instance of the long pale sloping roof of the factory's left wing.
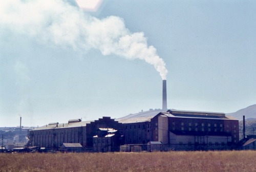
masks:
{"label": "long pale sloping roof of the factory's left wing", "polygon": [[89,124],[91,122],[92,121],[81,121],[81,122],[74,122],[74,123],[59,123],[58,126],[56,126],[56,125],[44,125],[44,126],[34,128],[32,131],[86,126],[87,124]]}

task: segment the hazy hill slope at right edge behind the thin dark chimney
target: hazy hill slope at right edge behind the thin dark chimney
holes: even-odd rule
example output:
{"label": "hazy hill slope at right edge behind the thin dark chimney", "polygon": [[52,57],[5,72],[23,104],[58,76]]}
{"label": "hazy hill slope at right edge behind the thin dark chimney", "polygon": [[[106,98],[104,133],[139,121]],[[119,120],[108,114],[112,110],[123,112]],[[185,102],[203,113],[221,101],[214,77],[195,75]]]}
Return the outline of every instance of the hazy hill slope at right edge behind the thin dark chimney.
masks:
{"label": "hazy hill slope at right edge behind the thin dark chimney", "polygon": [[227,116],[233,116],[239,120],[243,119],[243,115],[246,119],[253,118],[256,120],[256,104],[245,107],[244,109],[238,110],[237,112],[227,113]]}

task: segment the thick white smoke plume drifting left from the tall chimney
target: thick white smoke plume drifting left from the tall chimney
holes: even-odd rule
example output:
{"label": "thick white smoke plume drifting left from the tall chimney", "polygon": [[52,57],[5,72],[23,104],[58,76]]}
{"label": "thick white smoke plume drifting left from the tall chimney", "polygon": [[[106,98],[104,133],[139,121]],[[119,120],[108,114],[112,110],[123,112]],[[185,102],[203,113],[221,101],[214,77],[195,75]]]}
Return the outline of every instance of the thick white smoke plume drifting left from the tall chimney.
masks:
{"label": "thick white smoke plume drifting left from the tall chimney", "polygon": [[166,79],[165,62],[144,33],[131,33],[122,18],[90,16],[61,0],[8,0],[0,3],[0,26],[36,38],[41,44],[72,47],[86,52],[98,49],[150,63]]}

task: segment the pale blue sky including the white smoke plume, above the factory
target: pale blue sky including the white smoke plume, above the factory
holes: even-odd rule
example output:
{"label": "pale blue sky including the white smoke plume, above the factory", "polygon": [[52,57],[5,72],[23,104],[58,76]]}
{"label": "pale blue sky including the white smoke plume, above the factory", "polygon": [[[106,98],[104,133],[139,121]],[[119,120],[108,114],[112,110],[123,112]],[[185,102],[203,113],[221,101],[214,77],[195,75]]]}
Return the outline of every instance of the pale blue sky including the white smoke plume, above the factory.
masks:
{"label": "pale blue sky including the white smoke plume, above the factory", "polygon": [[255,11],[254,1],[103,0],[94,12],[1,2],[0,126],[158,109],[166,71],[169,109],[255,104]]}

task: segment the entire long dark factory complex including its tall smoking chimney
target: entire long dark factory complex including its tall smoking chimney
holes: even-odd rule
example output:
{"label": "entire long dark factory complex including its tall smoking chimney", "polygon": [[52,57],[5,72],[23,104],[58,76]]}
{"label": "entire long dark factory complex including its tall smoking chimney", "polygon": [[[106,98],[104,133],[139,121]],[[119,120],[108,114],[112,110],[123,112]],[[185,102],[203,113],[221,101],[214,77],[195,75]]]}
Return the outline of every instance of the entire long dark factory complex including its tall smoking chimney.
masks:
{"label": "entire long dark factory complex including its tall smoking chimney", "polygon": [[[168,110],[163,80],[161,110],[130,114],[118,120],[69,120],[49,123],[30,131],[30,146],[58,149],[79,143],[83,151],[218,150],[232,149],[239,141],[239,121],[224,113]],[[154,143],[154,145],[153,145]],[[123,149],[123,150],[124,150]]]}

